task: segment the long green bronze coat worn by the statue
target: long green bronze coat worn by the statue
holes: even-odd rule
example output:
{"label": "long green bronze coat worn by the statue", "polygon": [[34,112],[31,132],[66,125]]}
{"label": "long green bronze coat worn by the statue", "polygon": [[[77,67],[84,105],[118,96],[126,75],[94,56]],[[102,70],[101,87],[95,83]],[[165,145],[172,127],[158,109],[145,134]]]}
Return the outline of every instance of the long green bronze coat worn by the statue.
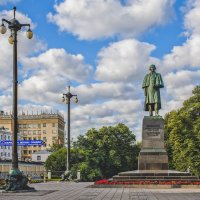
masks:
{"label": "long green bronze coat worn by the statue", "polygon": [[[164,83],[162,76],[159,73],[149,73],[144,77],[142,88],[145,92],[144,110],[148,111],[148,104],[158,103],[158,110],[161,109],[160,89],[163,88]],[[153,109],[155,110],[155,109]]]}

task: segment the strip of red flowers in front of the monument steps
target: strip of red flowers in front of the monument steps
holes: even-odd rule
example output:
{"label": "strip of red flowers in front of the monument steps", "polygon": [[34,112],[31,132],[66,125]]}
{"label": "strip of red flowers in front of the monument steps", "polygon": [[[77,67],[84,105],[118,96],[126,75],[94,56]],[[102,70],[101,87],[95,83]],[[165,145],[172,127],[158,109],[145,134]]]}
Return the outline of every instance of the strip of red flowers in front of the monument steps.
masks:
{"label": "strip of red flowers in front of the monument steps", "polygon": [[200,181],[161,181],[161,180],[144,180],[144,181],[109,181],[107,179],[95,182],[95,185],[200,185]]}

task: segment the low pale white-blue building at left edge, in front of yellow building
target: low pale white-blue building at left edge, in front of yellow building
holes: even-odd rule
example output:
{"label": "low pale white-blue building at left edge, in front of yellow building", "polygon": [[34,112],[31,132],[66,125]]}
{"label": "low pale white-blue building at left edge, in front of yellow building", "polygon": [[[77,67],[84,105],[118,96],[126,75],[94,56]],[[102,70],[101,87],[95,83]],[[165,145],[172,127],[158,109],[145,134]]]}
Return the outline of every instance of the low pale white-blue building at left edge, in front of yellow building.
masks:
{"label": "low pale white-blue building at left edge, in front of yellow building", "polygon": [[[12,140],[12,134],[4,127],[0,128],[0,141]],[[12,159],[12,146],[0,146],[0,160]],[[18,159],[21,160],[21,147],[18,147]]]}

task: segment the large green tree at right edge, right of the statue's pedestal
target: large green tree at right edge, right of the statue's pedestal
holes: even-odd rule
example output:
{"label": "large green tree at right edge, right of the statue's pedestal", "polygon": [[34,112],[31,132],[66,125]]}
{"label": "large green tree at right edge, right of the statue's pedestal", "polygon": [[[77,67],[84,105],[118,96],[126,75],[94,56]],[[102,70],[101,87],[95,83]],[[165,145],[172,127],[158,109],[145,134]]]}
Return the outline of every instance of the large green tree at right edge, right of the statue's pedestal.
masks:
{"label": "large green tree at right edge, right of the statue's pedestal", "polygon": [[200,86],[183,107],[165,116],[166,148],[170,168],[200,175]]}

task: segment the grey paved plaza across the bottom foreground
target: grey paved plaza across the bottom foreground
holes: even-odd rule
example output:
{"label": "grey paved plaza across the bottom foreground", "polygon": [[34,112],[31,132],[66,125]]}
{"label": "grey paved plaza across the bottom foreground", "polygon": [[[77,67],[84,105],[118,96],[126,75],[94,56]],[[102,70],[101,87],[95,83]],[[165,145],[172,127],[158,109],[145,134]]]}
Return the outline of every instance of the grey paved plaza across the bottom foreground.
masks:
{"label": "grey paved plaza across the bottom foreground", "polygon": [[0,200],[200,200],[200,189],[88,188],[92,183],[31,184],[37,191],[0,193]]}

